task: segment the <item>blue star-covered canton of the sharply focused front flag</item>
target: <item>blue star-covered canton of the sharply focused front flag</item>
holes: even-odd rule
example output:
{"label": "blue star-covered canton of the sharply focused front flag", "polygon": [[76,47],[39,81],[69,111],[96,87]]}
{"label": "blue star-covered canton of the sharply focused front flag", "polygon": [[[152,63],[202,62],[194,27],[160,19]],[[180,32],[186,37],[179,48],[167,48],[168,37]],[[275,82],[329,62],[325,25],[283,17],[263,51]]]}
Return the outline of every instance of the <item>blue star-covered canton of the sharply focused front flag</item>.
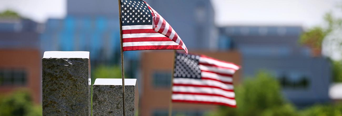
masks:
{"label": "blue star-covered canton of the sharply focused front flag", "polygon": [[121,0],[120,7],[122,26],[152,25],[152,15],[144,1]]}

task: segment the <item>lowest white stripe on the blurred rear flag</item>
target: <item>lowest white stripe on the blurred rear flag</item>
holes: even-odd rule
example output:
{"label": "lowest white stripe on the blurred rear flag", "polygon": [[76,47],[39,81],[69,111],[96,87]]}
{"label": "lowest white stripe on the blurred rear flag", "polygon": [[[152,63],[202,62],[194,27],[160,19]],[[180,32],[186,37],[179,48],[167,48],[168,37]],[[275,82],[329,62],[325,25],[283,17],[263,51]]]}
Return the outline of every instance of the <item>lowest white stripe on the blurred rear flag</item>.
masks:
{"label": "lowest white stripe on the blurred rear flag", "polygon": [[206,96],[206,95],[186,95],[186,94],[172,94],[172,100],[190,100],[190,101],[206,101],[206,102],[219,102],[229,105],[236,105],[236,101],[219,96]]}

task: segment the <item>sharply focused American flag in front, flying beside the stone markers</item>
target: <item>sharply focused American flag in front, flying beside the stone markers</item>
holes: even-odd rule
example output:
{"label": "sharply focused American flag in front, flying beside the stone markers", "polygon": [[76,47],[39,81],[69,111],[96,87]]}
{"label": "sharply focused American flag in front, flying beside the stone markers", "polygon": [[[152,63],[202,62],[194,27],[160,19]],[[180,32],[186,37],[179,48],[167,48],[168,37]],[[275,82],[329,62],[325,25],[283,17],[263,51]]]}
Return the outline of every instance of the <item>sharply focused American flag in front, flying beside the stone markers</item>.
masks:
{"label": "sharply focused American flag in front, flying beside the stone markers", "polygon": [[121,0],[123,51],[184,49],[170,24],[143,0]]}

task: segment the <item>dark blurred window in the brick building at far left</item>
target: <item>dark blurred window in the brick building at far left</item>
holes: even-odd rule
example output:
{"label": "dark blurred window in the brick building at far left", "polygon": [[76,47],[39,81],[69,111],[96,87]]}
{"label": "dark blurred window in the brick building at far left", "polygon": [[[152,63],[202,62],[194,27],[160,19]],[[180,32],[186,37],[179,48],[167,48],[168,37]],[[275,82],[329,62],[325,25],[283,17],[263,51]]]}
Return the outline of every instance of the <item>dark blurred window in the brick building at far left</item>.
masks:
{"label": "dark blurred window in the brick building at far left", "polygon": [[24,86],[27,74],[23,69],[0,69],[0,86]]}

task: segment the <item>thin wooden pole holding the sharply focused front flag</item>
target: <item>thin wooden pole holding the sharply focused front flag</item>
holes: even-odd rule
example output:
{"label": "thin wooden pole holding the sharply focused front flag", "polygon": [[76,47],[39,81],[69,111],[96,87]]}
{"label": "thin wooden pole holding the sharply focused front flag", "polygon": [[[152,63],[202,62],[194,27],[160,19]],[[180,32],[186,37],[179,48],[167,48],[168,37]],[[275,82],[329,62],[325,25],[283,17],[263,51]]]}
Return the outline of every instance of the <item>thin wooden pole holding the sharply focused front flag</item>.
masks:
{"label": "thin wooden pole holding the sharply focused front flag", "polygon": [[122,109],[123,109],[123,116],[126,115],[125,113],[125,71],[123,66],[123,43],[122,43],[122,19],[121,19],[121,1],[119,2],[119,23],[120,23],[120,51],[121,51],[121,79],[122,79]]}

